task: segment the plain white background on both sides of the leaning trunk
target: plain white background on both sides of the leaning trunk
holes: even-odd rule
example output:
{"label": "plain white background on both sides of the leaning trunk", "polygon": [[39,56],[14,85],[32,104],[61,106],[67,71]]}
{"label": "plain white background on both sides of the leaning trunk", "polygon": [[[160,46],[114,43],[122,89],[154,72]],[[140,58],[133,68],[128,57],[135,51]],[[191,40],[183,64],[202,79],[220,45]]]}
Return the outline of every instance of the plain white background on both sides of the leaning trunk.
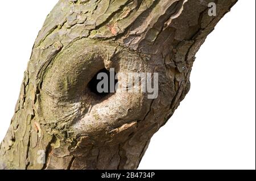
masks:
{"label": "plain white background on both sides of the leaning trunk", "polygon": [[[44,19],[57,0],[0,5],[0,140]],[[255,169],[255,1],[238,1],[197,53],[191,91],[139,169]]]}

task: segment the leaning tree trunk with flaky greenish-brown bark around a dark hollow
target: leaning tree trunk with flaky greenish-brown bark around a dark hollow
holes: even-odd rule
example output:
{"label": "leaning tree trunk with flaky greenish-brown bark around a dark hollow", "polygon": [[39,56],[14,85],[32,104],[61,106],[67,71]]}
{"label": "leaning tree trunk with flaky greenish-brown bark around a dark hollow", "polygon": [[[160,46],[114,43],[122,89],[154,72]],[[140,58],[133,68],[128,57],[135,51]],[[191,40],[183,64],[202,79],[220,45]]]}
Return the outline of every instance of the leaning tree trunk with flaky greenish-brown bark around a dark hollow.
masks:
{"label": "leaning tree trunk with flaky greenish-brown bark around a dark hollow", "polygon": [[[217,15],[208,15],[208,4]],[[137,169],[189,91],[195,54],[236,0],[60,0],[32,50],[1,169]],[[101,69],[159,73],[159,96],[99,99]],[[163,141],[166,142],[166,141]],[[46,163],[40,163],[40,150]]]}

